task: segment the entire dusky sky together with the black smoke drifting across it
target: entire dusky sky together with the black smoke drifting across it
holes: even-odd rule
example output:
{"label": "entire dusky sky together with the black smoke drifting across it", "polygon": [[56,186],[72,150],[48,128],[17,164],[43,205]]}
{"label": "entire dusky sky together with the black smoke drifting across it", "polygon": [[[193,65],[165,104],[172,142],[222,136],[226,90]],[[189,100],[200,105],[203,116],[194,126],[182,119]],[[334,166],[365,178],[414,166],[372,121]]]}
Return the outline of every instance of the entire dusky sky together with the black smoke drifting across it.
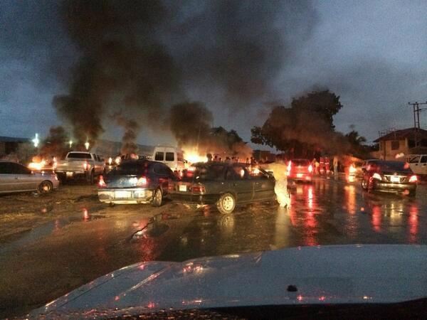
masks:
{"label": "entire dusky sky together with the black smoke drifting across it", "polygon": [[317,85],[341,97],[337,129],[356,124],[375,139],[411,126],[404,106],[427,99],[426,9],[389,0],[0,1],[3,134],[57,125],[58,95],[80,110],[64,107],[68,122],[93,124],[88,134],[75,129],[83,140],[115,137],[107,121],[116,110],[166,137],[158,128],[169,106],[185,101],[203,101],[214,124],[248,139],[269,113],[263,105]]}

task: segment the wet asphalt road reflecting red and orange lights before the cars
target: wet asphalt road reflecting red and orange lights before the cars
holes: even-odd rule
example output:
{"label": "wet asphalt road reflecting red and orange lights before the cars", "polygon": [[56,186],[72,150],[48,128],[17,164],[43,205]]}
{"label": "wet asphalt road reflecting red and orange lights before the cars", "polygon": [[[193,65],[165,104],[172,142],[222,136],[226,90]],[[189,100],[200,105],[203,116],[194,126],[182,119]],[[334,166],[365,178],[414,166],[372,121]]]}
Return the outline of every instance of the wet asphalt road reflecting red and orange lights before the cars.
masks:
{"label": "wet asphalt road reflecting red and orange lights before the cars", "polygon": [[368,194],[357,182],[317,178],[292,188],[290,208],[257,203],[232,215],[170,201],[160,208],[110,208],[90,196],[93,188],[87,192],[83,202],[58,205],[63,211],[51,220],[0,242],[0,317],[23,314],[144,260],[182,261],[304,245],[427,244],[426,186],[418,186],[416,198],[409,198]]}

